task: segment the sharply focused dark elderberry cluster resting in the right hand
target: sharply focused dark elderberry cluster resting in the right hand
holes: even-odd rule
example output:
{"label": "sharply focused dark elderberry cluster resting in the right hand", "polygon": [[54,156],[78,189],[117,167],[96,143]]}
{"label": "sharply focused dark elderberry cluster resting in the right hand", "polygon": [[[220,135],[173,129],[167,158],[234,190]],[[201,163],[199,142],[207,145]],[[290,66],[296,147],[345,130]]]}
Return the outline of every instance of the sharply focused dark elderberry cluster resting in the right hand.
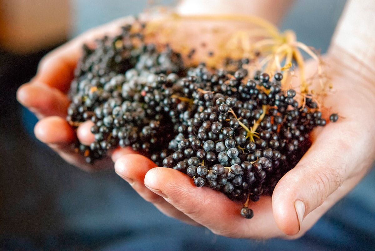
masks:
{"label": "sharply focused dark elderberry cluster resting in the right hand", "polygon": [[[317,103],[296,91],[283,91],[283,76],[266,73],[247,78],[245,69],[210,74],[203,66],[188,72],[180,85],[192,102],[181,99],[179,134],[163,166],[193,177],[232,200],[257,201],[271,195],[279,179],[302,158],[309,133],[326,120]],[[242,215],[251,218],[248,207]]]}

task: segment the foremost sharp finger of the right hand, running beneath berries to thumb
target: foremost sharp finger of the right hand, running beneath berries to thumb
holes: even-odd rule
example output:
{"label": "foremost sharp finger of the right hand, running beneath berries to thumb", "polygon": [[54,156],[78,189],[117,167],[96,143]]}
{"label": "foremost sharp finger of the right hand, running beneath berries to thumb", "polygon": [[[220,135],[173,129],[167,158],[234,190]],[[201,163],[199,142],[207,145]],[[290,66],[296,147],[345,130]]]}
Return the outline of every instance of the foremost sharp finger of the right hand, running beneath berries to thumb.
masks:
{"label": "foremost sharp finger of the right hand, running beneath berries to thumb", "polygon": [[254,217],[246,219],[240,215],[242,203],[210,188],[196,187],[190,177],[172,168],[152,168],[145,176],[145,185],[165,194],[166,201],[213,233],[255,239],[282,235],[272,216],[270,197],[249,204]]}

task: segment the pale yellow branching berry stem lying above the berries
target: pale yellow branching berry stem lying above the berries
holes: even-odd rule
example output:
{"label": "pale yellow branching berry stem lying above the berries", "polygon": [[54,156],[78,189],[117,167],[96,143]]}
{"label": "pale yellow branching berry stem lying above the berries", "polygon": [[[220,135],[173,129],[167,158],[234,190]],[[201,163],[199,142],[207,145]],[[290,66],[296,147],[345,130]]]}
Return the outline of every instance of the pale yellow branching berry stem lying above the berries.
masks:
{"label": "pale yellow branching berry stem lying above the berries", "polygon": [[[231,36],[225,37],[225,40],[219,42],[222,46],[216,55],[220,58],[227,57],[228,54],[231,57],[254,57],[257,53],[260,53],[263,58],[260,62],[265,72],[283,71],[288,69],[292,65],[292,60],[295,59],[300,72],[300,87],[302,93],[309,92],[308,81],[305,77],[305,66],[304,59],[301,51],[305,51],[314,60],[317,60],[317,77],[320,81],[320,85],[324,90],[325,81],[323,81],[322,68],[323,64],[316,53],[311,48],[302,42],[298,42],[296,35],[292,30],[286,30],[281,33],[277,27],[267,20],[263,20],[259,17],[248,16],[248,15],[179,15],[174,12],[168,11],[167,9],[159,9],[159,12],[163,14],[163,17],[158,20],[149,21],[145,27],[146,36],[156,36],[163,34],[159,38],[165,41],[159,41],[161,44],[165,44],[168,38],[174,36],[174,30],[178,30],[179,21],[234,21],[241,23],[253,24],[254,27],[249,29],[237,30],[231,34]],[[172,24],[170,27],[165,24]],[[213,32],[219,32],[215,30]],[[181,50],[185,50],[183,43],[176,45]],[[177,49],[178,50],[178,49]],[[186,49],[187,50],[187,49]],[[238,52],[235,56],[234,53]],[[220,55],[220,56],[219,56]],[[255,56],[257,57],[257,56]],[[213,64],[217,66],[218,60],[213,60]],[[284,65],[282,65],[284,63]],[[214,66],[213,65],[213,66]],[[250,68],[251,66],[249,66]],[[289,74],[285,74],[281,84],[285,86],[286,83],[291,81]]]}

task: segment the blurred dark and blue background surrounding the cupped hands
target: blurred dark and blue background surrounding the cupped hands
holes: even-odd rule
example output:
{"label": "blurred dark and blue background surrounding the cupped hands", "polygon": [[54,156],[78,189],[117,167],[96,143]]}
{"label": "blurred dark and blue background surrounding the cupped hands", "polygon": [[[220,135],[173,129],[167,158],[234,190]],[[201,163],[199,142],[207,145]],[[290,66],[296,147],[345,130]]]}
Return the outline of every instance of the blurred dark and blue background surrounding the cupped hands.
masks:
{"label": "blurred dark and blue background surrounding the cupped hands", "polygon": [[[64,36],[26,52],[0,47],[0,249],[375,249],[375,170],[302,238],[254,242],[168,218],[114,171],[78,170],[34,138],[36,119],[17,103],[15,92],[35,74],[43,54],[91,27],[137,14],[147,3],[70,1]],[[281,30],[295,30],[299,41],[324,53],[344,5],[343,0],[296,1]]]}

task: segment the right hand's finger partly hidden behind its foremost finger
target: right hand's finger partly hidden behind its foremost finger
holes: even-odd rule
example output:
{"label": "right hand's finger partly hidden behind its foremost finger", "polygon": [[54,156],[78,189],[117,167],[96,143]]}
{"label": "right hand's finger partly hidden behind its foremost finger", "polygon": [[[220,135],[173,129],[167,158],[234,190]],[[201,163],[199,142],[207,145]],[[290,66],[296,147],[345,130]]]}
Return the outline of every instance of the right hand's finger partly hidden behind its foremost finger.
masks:
{"label": "right hand's finger partly hidden behind its foremost finger", "polygon": [[153,167],[156,167],[154,162],[139,154],[128,154],[115,162],[116,173],[126,180],[142,198],[153,203],[165,215],[196,225],[196,222],[175,209],[164,200],[163,196],[157,194],[158,191],[151,191],[144,185],[144,176]]}

